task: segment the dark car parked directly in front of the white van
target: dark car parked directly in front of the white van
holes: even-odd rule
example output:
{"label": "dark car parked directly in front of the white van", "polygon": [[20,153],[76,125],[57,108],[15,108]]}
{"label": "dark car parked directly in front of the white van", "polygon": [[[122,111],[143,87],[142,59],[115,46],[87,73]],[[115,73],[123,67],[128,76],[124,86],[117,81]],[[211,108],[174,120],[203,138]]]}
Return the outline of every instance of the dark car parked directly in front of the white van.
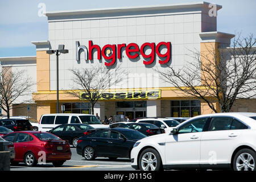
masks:
{"label": "dark car parked directly in front of the white van", "polygon": [[94,127],[85,124],[64,124],[49,130],[49,133],[55,134],[63,140],[68,140],[73,147],[77,146],[77,140],[84,135],[97,131]]}

